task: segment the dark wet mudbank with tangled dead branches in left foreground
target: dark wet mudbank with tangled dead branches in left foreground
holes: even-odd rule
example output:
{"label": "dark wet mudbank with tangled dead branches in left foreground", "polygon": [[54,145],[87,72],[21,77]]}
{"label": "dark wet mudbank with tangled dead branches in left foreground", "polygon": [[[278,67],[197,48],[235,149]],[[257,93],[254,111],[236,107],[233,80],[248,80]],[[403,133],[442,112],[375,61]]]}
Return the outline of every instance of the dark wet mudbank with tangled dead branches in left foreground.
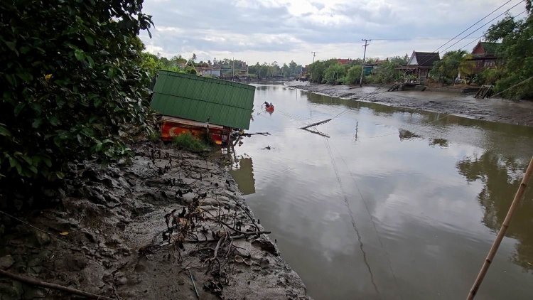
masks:
{"label": "dark wet mudbank with tangled dead branches in left foreground", "polygon": [[[113,299],[308,299],[224,158],[133,149],[131,162],[72,164],[48,195],[58,208],[1,213],[0,269]],[[6,277],[0,295],[72,297]]]}

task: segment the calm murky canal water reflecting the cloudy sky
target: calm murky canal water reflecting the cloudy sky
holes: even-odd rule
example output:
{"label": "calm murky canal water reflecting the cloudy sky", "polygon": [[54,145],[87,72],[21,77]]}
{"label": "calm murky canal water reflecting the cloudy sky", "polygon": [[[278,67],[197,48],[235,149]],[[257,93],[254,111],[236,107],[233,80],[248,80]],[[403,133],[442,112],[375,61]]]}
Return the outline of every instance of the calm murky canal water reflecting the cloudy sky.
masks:
{"label": "calm murky canal water reflecting the cloudy sky", "polygon": [[[532,128],[281,85],[257,86],[254,109],[249,132],[271,135],[235,146],[231,173],[310,296],[465,299],[533,154]],[[530,190],[476,299],[533,299]]]}

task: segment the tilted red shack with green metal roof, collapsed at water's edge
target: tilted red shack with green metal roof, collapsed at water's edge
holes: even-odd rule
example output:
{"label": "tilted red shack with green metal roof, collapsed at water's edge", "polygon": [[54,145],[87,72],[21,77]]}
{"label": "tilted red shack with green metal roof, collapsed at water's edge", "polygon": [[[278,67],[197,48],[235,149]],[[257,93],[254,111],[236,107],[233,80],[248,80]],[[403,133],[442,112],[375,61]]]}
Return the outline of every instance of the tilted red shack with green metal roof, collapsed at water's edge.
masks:
{"label": "tilted red shack with green metal roof, collapsed at water's edge", "polygon": [[190,132],[228,144],[232,129],[249,129],[254,94],[252,85],[161,70],[150,106],[163,115],[163,141]]}

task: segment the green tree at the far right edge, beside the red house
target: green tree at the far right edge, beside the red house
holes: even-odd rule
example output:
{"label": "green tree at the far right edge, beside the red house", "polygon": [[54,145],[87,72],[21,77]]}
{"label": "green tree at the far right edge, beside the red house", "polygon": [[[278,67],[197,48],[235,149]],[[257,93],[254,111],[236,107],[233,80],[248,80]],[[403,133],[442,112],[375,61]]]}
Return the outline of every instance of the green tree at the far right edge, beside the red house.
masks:
{"label": "green tree at the far right edge, beside the red house", "polygon": [[[503,65],[497,70],[487,73],[495,82],[496,92],[517,85],[533,76],[533,15],[532,1],[527,1],[528,16],[523,20],[516,20],[506,16],[495,25],[490,26],[486,33],[488,41],[501,41],[498,53]],[[504,93],[505,97],[533,98],[533,79],[529,79],[517,87]]]}

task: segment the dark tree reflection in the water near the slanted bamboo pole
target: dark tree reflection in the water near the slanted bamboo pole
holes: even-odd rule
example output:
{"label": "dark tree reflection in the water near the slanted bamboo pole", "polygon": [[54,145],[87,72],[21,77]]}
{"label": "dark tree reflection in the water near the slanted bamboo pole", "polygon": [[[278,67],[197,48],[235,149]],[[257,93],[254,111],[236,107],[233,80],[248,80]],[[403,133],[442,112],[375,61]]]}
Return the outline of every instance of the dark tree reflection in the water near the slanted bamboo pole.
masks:
{"label": "dark tree reflection in the water near the slanted bamboo pole", "polygon": [[[486,151],[479,157],[467,157],[457,163],[457,168],[466,181],[480,181],[483,189],[478,200],[485,212],[483,224],[492,230],[500,230],[512,198],[522,180],[527,165],[512,158],[502,158]],[[533,193],[529,188],[522,203],[515,211],[507,236],[517,239],[512,260],[527,270],[533,270]]]}

